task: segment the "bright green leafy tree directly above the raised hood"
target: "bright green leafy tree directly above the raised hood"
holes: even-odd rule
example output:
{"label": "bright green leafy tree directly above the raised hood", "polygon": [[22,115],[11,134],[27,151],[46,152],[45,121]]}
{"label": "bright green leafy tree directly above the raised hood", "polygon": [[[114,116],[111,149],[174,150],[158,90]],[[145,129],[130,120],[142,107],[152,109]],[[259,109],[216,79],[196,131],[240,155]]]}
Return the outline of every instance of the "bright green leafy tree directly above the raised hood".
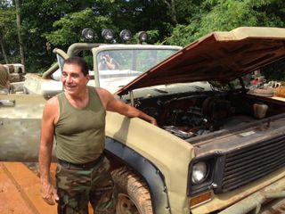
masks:
{"label": "bright green leafy tree directly above the raised hood", "polygon": [[240,26],[285,26],[285,2],[281,0],[206,0],[199,13],[189,17],[189,23],[176,25],[167,41],[187,45],[216,30],[231,30]]}

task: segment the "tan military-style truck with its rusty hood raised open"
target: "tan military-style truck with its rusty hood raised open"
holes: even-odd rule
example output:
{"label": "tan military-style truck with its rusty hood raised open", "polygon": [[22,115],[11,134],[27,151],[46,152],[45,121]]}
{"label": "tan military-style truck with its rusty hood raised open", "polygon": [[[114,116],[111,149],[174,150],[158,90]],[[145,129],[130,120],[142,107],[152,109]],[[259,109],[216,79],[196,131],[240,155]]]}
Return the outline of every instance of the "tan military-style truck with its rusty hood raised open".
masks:
{"label": "tan military-style truck with its rusty hood raised open", "polygon": [[[117,98],[155,117],[159,126],[107,113],[117,213],[284,211],[285,100],[248,86],[248,74],[284,61],[284,44],[285,29],[213,32],[118,85]],[[100,48],[91,48],[94,86],[109,75],[96,71]],[[56,53],[61,68],[77,52]],[[37,160],[48,94],[1,95],[1,161]]]}

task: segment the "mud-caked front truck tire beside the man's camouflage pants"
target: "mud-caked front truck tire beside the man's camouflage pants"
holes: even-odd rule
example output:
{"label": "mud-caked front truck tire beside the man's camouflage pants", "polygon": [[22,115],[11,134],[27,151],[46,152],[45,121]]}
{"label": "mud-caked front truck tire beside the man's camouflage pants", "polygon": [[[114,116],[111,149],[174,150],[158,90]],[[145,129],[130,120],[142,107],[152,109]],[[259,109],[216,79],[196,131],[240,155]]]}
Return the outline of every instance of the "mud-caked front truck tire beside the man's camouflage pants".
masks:
{"label": "mud-caked front truck tire beside the man's camouflage pants", "polygon": [[142,179],[126,167],[112,171],[118,188],[117,214],[152,214],[151,194]]}

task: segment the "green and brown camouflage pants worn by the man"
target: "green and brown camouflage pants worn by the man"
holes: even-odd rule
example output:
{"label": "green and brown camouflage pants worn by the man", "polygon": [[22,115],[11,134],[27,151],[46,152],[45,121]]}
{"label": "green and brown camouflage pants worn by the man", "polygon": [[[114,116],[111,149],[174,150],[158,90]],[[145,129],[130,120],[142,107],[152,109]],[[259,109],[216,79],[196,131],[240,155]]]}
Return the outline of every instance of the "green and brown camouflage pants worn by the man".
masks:
{"label": "green and brown camouflage pants worn by the man", "polygon": [[105,157],[92,169],[68,169],[58,164],[56,186],[59,214],[87,214],[88,202],[95,214],[116,213],[117,191]]}

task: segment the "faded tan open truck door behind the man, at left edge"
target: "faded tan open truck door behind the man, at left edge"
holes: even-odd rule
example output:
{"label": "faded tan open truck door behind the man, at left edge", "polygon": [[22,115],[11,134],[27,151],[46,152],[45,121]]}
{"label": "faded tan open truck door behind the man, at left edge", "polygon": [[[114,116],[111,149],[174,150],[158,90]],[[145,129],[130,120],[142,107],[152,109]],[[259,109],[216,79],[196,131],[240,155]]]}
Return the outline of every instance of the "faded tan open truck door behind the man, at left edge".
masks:
{"label": "faded tan open truck door behind the man, at left edge", "polygon": [[37,161],[42,111],[41,95],[0,95],[0,161]]}

